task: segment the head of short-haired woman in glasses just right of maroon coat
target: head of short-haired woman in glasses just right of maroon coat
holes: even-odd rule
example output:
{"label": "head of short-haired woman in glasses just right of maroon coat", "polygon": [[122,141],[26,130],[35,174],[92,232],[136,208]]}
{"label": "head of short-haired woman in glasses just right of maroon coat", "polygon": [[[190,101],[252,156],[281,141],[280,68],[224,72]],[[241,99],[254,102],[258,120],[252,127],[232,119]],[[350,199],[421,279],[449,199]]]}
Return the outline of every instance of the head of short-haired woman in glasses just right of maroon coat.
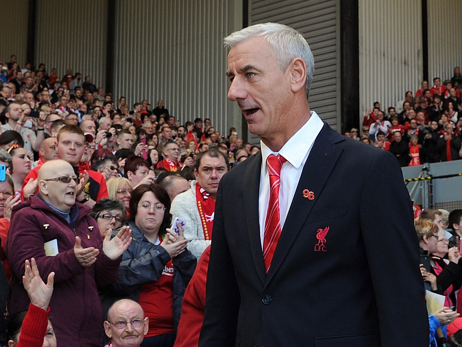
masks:
{"label": "head of short-haired woman in glasses just right of maroon coat", "polygon": [[103,238],[109,229],[112,231],[122,225],[125,215],[125,206],[122,201],[111,198],[98,200],[90,212],[90,216],[98,223],[99,232]]}

